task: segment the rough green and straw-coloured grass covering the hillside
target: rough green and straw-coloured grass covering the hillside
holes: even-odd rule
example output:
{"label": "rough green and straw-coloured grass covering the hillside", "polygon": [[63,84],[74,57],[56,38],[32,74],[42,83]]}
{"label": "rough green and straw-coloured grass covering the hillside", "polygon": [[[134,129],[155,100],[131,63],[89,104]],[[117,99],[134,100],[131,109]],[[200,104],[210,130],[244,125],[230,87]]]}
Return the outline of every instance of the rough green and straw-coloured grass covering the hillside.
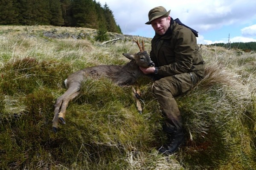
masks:
{"label": "rough green and straw-coloured grass covering the hillside", "polygon": [[[84,39],[45,37],[44,31]],[[67,108],[66,125],[52,132],[55,100],[74,71],[122,65],[135,53],[131,37],[102,45],[85,28],[1,26],[0,169],[10,170],[253,170],[256,168],[256,53],[202,46],[206,76],[177,97],[186,142],[172,156],[156,148],[166,142],[163,116],[152,82],[142,92],[143,114],[131,87],[89,79]],[[145,39],[150,50],[150,40]]]}

